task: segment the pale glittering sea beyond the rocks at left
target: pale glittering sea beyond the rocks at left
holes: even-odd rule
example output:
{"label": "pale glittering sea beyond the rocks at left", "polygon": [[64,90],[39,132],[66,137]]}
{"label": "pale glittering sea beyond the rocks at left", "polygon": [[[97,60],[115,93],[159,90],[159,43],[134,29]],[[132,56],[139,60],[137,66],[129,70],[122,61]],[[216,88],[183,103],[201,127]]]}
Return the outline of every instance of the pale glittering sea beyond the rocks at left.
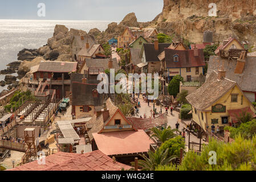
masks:
{"label": "pale glittering sea beyond the rocks at left", "polygon": [[[89,32],[92,28],[105,31],[111,21],[95,20],[0,20],[0,70],[17,61],[17,54],[23,48],[35,49],[47,44],[54,34],[56,24]],[[118,22],[117,22],[118,23]],[[17,76],[17,73],[13,75]],[[0,81],[5,75],[0,75]],[[7,89],[0,86],[0,92]]]}

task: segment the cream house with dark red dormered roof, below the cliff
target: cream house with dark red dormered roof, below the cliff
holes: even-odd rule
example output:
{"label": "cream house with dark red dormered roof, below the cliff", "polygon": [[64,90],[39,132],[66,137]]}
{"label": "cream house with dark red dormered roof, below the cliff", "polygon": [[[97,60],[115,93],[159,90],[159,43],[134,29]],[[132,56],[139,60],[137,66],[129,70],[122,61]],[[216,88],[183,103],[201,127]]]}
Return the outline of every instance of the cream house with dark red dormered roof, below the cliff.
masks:
{"label": "cream house with dark red dormered roof, below the cliff", "polygon": [[204,75],[205,58],[203,49],[164,49],[164,57],[160,55],[161,69],[168,72],[168,80],[176,75],[184,78],[184,81],[198,81],[199,76]]}

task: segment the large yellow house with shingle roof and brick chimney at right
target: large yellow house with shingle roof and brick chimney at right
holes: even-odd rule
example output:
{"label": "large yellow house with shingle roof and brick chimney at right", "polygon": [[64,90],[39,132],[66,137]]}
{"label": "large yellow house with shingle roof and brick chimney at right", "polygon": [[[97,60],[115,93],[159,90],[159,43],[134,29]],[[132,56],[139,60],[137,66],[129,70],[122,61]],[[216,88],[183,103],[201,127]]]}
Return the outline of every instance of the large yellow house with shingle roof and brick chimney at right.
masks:
{"label": "large yellow house with shingle roof and brick chimney at right", "polygon": [[236,114],[243,110],[256,113],[238,84],[225,78],[225,73],[223,69],[213,71],[205,84],[186,97],[192,105],[193,122],[204,131],[210,131],[212,125],[234,126]]}

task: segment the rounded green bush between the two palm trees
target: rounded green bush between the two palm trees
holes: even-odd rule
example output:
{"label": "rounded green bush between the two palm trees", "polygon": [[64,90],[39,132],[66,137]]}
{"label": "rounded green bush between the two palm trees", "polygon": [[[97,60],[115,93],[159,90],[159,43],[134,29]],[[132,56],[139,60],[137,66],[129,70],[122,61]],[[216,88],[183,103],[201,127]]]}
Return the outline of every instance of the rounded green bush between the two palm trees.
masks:
{"label": "rounded green bush between the two palm trees", "polygon": [[168,148],[169,148],[168,157],[173,155],[180,156],[180,149],[185,148],[184,139],[180,136],[169,139],[161,145],[159,150],[165,151]]}

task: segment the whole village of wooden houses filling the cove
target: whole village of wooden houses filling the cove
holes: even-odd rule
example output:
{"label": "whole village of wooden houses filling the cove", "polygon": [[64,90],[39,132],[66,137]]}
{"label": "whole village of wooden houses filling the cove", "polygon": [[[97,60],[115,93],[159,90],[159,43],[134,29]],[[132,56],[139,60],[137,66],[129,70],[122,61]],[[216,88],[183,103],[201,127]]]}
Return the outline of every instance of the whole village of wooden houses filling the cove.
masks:
{"label": "whole village of wooden houses filling the cove", "polygon": [[[214,35],[192,43],[126,27],[104,44],[74,36],[70,61],[39,59],[1,96],[1,169],[255,170],[256,54],[245,40],[217,44]],[[127,80],[158,73],[159,96],[99,93],[97,76],[111,69]]]}

